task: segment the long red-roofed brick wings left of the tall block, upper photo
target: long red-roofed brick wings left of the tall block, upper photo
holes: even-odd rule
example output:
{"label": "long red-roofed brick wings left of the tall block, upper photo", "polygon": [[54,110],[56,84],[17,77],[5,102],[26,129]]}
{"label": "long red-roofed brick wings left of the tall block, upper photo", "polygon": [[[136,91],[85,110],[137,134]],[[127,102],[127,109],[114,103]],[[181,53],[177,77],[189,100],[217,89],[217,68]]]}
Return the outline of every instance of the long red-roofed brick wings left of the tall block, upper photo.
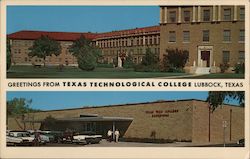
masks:
{"label": "long red-roofed brick wings left of the tall block, upper photo", "polygon": [[41,58],[29,57],[29,48],[34,40],[42,35],[60,42],[62,52],[59,56],[46,57],[47,65],[77,65],[76,57],[69,52],[69,46],[80,38],[92,40],[96,47],[101,50],[100,63],[115,64],[122,67],[124,59],[131,55],[134,63],[142,61],[146,49],[159,57],[160,27],[144,27],[130,30],[113,31],[107,33],[69,33],[69,32],[43,32],[43,31],[20,31],[8,35],[11,40],[12,63],[15,65],[42,64]]}

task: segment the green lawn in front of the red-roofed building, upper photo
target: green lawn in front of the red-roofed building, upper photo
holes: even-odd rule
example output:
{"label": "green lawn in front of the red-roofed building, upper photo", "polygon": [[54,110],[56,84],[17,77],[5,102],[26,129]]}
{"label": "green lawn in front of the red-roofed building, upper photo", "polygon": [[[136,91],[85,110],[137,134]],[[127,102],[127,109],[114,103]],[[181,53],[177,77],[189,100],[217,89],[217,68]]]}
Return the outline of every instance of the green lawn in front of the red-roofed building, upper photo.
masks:
{"label": "green lawn in front of the red-roofed building, upper photo", "polygon": [[94,71],[82,71],[77,67],[47,66],[34,68],[32,66],[11,66],[7,78],[154,78],[188,75],[186,73],[166,72],[134,72],[133,69],[96,68]]}

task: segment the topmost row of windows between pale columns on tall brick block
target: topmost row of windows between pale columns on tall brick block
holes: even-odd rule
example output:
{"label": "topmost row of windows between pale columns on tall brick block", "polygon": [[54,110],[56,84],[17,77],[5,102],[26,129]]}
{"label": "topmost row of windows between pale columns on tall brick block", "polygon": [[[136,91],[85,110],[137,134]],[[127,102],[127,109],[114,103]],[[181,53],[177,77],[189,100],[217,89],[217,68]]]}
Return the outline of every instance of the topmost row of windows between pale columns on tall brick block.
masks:
{"label": "topmost row of windows between pale columns on tall brick block", "polygon": [[[211,9],[204,9],[202,11],[202,21],[209,22],[212,20]],[[224,21],[231,21],[232,20],[232,9],[231,8],[225,8],[223,9],[223,17],[222,20]],[[177,12],[176,11],[169,11],[169,22],[176,23],[177,22]],[[245,19],[245,8],[240,8],[239,11],[239,19],[244,20]],[[190,10],[183,10],[183,21],[184,22],[190,22],[191,21],[191,11]]]}

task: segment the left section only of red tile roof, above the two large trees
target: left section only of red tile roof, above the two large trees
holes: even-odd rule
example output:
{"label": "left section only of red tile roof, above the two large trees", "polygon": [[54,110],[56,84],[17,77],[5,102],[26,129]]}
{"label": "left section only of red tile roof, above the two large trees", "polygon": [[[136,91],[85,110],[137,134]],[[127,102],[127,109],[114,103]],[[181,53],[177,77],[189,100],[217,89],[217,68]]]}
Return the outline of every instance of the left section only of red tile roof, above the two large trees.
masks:
{"label": "left section only of red tile roof, above the two large trees", "polygon": [[78,39],[81,35],[91,40],[96,37],[96,34],[94,33],[46,32],[46,31],[23,30],[9,34],[8,38],[16,40],[35,40],[40,38],[42,35],[49,36],[50,38],[58,41],[74,41]]}

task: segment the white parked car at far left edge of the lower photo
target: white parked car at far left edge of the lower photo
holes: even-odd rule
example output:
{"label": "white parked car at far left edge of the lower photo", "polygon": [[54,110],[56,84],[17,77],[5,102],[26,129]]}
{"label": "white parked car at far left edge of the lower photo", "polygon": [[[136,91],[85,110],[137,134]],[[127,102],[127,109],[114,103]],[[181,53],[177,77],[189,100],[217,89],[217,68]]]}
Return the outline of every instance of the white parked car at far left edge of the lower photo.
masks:
{"label": "white parked car at far left edge of the lower photo", "polygon": [[27,131],[10,131],[7,134],[7,144],[14,145],[33,145],[34,137],[30,136]]}

